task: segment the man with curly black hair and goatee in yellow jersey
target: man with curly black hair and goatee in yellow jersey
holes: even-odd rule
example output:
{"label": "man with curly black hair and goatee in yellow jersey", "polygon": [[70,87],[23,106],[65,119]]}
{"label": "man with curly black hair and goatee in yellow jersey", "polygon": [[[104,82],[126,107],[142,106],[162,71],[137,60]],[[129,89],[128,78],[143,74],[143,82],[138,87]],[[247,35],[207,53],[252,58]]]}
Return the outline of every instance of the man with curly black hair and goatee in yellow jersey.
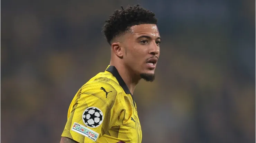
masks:
{"label": "man with curly black hair and goatee in yellow jersey", "polygon": [[121,8],[103,27],[110,65],[73,98],[61,143],[141,143],[132,93],[141,78],[154,80],[161,37],[153,12],[139,5]]}

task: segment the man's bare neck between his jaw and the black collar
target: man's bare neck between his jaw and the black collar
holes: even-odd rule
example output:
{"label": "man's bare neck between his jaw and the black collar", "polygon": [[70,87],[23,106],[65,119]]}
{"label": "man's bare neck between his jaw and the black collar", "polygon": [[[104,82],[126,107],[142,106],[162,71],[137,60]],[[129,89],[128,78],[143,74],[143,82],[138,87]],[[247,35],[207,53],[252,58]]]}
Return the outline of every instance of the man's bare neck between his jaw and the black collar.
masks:
{"label": "man's bare neck between his jaw and the black collar", "polygon": [[125,81],[125,84],[129,88],[131,94],[133,94],[135,87],[139,83],[140,78],[138,78],[136,74],[132,73],[131,70],[127,68],[124,64],[110,62],[110,65],[116,67],[119,75]]}

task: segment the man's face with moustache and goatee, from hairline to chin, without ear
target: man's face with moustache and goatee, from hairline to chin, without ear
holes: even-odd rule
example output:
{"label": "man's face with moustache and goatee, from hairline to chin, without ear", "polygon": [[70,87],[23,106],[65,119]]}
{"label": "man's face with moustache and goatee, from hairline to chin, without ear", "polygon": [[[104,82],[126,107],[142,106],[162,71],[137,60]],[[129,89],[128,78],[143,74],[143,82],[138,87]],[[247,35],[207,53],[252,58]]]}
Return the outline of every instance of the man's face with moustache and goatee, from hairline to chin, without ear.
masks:
{"label": "man's face with moustache and goatee, from hairline to chin, without ear", "polygon": [[161,43],[157,26],[155,24],[132,26],[123,39],[124,63],[141,78],[153,81],[152,76],[155,74]]}

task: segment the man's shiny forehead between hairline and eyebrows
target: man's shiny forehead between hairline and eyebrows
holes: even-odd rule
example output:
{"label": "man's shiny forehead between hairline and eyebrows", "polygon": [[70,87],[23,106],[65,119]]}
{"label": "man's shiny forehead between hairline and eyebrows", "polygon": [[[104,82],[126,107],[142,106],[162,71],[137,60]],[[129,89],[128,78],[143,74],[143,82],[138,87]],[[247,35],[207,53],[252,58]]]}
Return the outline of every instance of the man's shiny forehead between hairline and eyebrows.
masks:
{"label": "man's shiny forehead between hairline and eyebrows", "polygon": [[134,25],[130,28],[131,34],[150,34],[154,33],[156,35],[159,35],[158,29],[156,24],[140,24],[140,25]]}

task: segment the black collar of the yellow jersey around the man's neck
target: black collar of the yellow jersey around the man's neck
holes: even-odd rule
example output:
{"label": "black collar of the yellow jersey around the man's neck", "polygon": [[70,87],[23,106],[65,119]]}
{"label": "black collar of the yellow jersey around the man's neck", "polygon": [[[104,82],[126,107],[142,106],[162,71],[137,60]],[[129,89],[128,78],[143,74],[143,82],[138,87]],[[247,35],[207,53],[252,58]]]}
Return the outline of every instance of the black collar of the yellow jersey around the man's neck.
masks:
{"label": "black collar of the yellow jersey around the man's neck", "polygon": [[117,69],[115,66],[108,66],[108,68],[106,69],[106,71],[110,72],[113,76],[116,77],[119,85],[124,89],[126,94],[131,94],[129,88],[127,87],[127,85],[125,84],[125,81],[122,79],[122,77],[119,75]]}

